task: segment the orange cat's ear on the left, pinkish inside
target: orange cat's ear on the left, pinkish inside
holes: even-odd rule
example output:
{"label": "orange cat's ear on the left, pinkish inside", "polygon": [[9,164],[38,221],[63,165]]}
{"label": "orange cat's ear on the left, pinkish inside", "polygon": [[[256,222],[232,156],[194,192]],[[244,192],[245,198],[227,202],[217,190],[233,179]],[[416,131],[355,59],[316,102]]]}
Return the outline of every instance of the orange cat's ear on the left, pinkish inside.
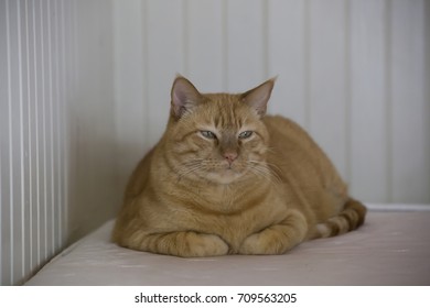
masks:
{"label": "orange cat's ear on the left, pinkish inside", "polygon": [[186,78],[178,76],[173,81],[171,99],[172,114],[180,119],[201,102],[202,95]]}

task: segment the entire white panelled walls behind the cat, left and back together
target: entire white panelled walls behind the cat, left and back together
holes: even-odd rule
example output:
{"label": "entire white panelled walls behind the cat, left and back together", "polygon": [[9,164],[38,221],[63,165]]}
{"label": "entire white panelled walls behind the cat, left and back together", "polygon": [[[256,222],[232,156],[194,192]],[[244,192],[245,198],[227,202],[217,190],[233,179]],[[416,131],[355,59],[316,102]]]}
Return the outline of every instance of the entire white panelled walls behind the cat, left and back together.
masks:
{"label": "entire white panelled walls behind the cat, left and back together", "polygon": [[430,204],[424,0],[0,0],[0,277],[20,284],[111,218],[176,73],[279,75],[270,111],[370,202]]}

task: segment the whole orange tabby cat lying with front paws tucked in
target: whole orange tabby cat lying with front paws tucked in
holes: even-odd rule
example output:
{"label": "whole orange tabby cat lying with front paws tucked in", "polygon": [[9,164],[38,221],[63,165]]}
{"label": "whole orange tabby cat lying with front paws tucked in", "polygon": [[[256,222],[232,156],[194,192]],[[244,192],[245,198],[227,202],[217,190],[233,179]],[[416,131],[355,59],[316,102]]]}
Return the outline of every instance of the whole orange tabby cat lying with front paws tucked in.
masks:
{"label": "whole orange tabby cat lying with front paws tucked in", "polygon": [[182,257],[283,254],[363,224],[366,207],[310,135],[266,116],[273,85],[201,94],[178,76],[165,132],[131,175],[114,242]]}

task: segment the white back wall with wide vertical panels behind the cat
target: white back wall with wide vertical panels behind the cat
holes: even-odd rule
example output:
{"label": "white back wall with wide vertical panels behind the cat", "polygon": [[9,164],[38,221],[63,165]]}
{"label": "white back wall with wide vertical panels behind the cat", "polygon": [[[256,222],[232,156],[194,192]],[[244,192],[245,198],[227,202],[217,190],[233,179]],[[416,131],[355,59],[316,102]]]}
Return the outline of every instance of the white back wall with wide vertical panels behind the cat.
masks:
{"label": "white back wall with wide vertical panels behind the cat", "polygon": [[424,0],[115,1],[121,183],[163,131],[176,73],[202,91],[244,91],[278,75],[270,112],[304,125],[354,196],[429,204],[429,8]]}

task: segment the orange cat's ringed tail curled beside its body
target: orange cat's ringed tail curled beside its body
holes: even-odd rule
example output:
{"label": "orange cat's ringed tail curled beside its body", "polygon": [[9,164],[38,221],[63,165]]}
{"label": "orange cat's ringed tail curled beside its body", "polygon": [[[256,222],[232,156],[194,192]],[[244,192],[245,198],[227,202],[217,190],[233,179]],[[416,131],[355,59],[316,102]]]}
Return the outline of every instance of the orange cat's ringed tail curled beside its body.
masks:
{"label": "orange cat's ringed tail curled beside its body", "polygon": [[315,226],[310,239],[335,237],[355,230],[364,223],[366,212],[362,202],[350,198],[337,216]]}

